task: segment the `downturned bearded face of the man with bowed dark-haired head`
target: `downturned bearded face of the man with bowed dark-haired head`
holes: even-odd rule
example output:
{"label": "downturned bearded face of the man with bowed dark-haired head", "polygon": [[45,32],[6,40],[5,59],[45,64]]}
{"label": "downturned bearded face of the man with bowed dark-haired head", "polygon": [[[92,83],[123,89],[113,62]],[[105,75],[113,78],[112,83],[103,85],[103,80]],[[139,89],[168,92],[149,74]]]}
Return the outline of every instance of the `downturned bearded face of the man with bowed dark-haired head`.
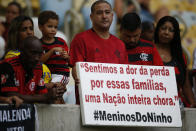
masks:
{"label": "downturned bearded face of the man with bowed dark-haired head", "polygon": [[135,31],[129,31],[126,29],[120,30],[120,39],[125,43],[127,49],[137,46],[141,35],[141,28],[137,28]]}

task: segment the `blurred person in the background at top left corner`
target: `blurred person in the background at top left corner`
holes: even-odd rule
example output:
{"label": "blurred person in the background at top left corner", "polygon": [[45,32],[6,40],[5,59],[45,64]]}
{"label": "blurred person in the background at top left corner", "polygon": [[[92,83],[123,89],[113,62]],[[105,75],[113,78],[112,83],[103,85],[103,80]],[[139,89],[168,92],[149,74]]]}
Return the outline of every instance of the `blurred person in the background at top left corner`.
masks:
{"label": "blurred person in the background at top left corner", "polygon": [[20,6],[19,3],[13,1],[11,3],[8,4],[8,7],[6,9],[6,14],[5,14],[5,17],[6,17],[6,21],[3,22],[3,26],[4,26],[4,31],[1,30],[0,28],[0,32],[3,32],[3,37],[5,39],[5,41],[7,42],[8,40],[8,30],[9,30],[9,27],[10,27],[10,24],[11,24],[11,21],[22,14],[22,8]]}

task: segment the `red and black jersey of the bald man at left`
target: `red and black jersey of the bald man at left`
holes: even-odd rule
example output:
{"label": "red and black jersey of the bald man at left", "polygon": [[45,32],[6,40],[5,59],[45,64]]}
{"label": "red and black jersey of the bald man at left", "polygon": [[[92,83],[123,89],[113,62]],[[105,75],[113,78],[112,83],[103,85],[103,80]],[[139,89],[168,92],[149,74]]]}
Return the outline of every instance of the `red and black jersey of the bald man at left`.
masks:
{"label": "red and black jersey of the bald man at left", "polygon": [[23,95],[45,94],[48,92],[42,78],[42,66],[37,64],[28,74],[19,56],[5,59],[0,65],[1,92],[18,92]]}

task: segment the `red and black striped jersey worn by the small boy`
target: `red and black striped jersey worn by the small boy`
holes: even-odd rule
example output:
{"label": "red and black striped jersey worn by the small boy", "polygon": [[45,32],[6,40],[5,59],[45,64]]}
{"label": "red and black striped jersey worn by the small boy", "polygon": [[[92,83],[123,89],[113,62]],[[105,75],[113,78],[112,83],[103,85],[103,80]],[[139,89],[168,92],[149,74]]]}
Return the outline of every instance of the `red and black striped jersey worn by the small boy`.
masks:
{"label": "red and black striped jersey worn by the small boy", "polygon": [[[61,47],[68,53],[68,46],[66,42],[59,37],[54,37],[54,38],[55,41],[49,44],[41,40],[44,53],[48,52],[54,47]],[[48,66],[52,74],[61,74],[61,75],[69,76],[70,70],[69,70],[68,60],[62,58],[58,54],[58,52],[54,53],[44,64]]]}

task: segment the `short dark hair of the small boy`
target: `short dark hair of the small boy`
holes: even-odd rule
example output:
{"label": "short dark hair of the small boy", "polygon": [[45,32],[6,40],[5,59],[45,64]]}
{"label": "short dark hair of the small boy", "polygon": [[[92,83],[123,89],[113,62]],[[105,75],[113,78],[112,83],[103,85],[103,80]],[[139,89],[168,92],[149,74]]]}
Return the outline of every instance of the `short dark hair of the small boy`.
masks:
{"label": "short dark hair of the small boy", "polygon": [[39,14],[38,24],[44,25],[48,22],[49,19],[59,20],[58,15],[53,11],[43,11]]}

